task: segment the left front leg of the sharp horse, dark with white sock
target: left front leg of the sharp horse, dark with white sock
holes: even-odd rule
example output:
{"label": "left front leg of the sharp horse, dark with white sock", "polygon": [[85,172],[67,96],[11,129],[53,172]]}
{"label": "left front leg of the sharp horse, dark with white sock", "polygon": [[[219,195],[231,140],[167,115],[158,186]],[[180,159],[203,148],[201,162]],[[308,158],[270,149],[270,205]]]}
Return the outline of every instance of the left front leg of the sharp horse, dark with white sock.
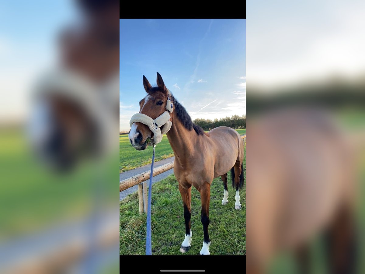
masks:
{"label": "left front leg of the sharp horse, dark with white sock", "polygon": [[191,217],[191,185],[181,186],[179,184],[179,190],[181,194],[181,198],[183,198],[183,206],[184,206],[184,219],[185,219],[185,239],[181,244],[180,251],[184,253],[190,249],[191,242],[191,226],[190,226],[190,217]]}

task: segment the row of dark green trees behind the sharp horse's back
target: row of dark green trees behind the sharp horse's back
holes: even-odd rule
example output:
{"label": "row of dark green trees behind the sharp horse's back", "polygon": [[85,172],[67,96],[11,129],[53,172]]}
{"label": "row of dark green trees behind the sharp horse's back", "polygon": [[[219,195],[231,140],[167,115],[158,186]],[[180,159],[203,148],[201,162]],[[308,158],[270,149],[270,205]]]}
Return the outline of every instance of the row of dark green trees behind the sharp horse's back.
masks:
{"label": "row of dark green trees behind the sharp horse's back", "polygon": [[232,117],[215,118],[211,119],[196,118],[193,123],[200,126],[203,130],[211,130],[217,126],[228,126],[233,129],[245,129],[246,128],[246,115],[233,115]]}

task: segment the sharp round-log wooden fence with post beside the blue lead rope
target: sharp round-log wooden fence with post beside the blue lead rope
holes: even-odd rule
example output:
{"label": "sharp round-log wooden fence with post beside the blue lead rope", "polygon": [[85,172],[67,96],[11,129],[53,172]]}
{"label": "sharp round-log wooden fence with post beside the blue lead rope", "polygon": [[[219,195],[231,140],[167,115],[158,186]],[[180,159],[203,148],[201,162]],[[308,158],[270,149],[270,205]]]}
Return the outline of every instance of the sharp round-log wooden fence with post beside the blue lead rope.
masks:
{"label": "sharp round-log wooden fence with post beside the blue lead rope", "polygon": [[[245,140],[246,146],[246,134],[241,136]],[[174,168],[174,162],[170,162],[161,167],[157,167],[153,170],[153,176],[159,175]],[[143,173],[132,176],[128,179],[119,182],[119,192],[129,189],[132,186],[138,184],[138,200],[139,200],[139,214],[147,212],[147,183],[146,180],[150,179],[150,171],[147,170]]]}

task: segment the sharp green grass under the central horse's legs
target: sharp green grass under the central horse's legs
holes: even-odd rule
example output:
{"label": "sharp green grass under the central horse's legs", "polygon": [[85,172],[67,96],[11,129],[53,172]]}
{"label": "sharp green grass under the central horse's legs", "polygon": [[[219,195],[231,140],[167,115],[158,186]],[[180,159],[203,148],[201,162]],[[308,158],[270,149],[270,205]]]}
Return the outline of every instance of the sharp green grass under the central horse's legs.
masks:
{"label": "sharp green grass under the central horse's legs", "polygon": [[[243,165],[245,168],[245,160]],[[211,184],[209,235],[212,255],[246,254],[246,189],[240,190],[242,210],[235,210],[235,190],[232,189],[230,180],[231,177],[228,172],[229,197],[228,204],[224,206],[222,205],[222,180],[216,178]],[[200,222],[200,193],[192,187],[191,196],[191,230],[193,236],[191,249],[185,254],[198,255],[203,244],[203,225]],[[153,254],[181,254],[179,249],[185,236],[185,221],[183,202],[174,175],[170,175],[153,185],[151,204]],[[134,193],[120,202],[120,254],[143,255],[146,252],[145,244],[146,214],[139,215],[138,193]]]}

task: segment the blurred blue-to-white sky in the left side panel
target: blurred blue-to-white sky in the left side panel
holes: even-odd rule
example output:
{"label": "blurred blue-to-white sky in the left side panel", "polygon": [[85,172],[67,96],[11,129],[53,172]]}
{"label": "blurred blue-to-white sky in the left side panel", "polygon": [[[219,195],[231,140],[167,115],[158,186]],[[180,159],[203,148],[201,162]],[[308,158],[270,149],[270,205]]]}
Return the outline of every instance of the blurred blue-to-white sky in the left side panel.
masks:
{"label": "blurred blue-to-white sky in the left side panel", "polygon": [[57,59],[56,37],[77,18],[74,1],[0,1],[0,119],[27,117],[34,81]]}

